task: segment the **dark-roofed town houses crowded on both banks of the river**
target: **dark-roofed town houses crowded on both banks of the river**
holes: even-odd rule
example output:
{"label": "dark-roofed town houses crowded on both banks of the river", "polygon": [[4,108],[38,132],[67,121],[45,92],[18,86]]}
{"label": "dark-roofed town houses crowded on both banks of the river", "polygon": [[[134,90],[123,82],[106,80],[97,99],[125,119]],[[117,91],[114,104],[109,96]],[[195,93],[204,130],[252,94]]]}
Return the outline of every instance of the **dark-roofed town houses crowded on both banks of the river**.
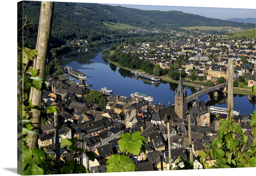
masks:
{"label": "dark-roofed town houses crowded on both banks of the river", "polygon": [[[177,35],[185,35],[185,33]],[[178,64],[178,60],[183,57],[180,65],[176,66],[179,72],[184,70],[187,76],[196,72],[196,80],[203,78],[202,83],[205,82],[205,85],[208,81],[216,85],[221,77],[228,82],[228,60],[233,58],[233,79],[244,83],[244,79],[249,75],[248,83],[240,86],[240,89],[248,91],[245,87],[252,87],[255,84],[255,39],[228,40],[224,35],[207,38],[198,36],[194,40],[136,43],[134,46],[124,45],[121,50],[130,55],[137,54],[139,59],[150,61],[162,69],[170,69],[170,66]],[[216,38],[221,41],[213,42]],[[166,77],[161,76],[161,78]],[[98,103],[85,100],[92,90],[84,80],[80,80],[77,84],[72,83],[62,74],[55,79],[53,76],[47,77],[48,89],[43,91],[42,100],[48,106],[59,108],[59,124],[61,124],[59,142],[62,139],[77,137],[84,141],[80,147],[94,153],[94,161],[88,160],[84,154],[79,159],[80,164],[91,173],[106,172],[108,159],[114,154],[122,155],[117,143],[120,136],[136,131],[141,132],[145,137],[146,153],[129,155],[135,163],[135,171],[169,170],[167,123],[170,128],[172,168],[177,165],[180,168],[184,167],[183,162],[177,164],[179,157],[190,160],[188,136],[190,123],[193,142],[192,162],[194,169],[203,169],[205,167],[200,161],[199,152],[206,150],[204,143],[212,143],[218,138],[221,119],[226,119],[227,114],[220,112],[215,116],[204,101],[195,102],[192,108],[187,110],[184,102],[188,95],[184,90],[181,75],[178,81],[175,105],[170,106],[161,103],[151,104],[141,97],[106,95],[106,106],[100,108]],[[191,79],[190,81],[192,82]],[[234,123],[240,125],[243,133],[248,136],[248,144],[254,139],[254,127],[250,126],[251,117],[251,113],[234,115]],[[45,121],[41,121],[42,134],[39,135],[38,145],[47,148],[47,151],[55,156],[54,115],[47,114],[43,119]],[[64,162],[73,160],[72,152],[75,151],[62,148],[61,160]]]}

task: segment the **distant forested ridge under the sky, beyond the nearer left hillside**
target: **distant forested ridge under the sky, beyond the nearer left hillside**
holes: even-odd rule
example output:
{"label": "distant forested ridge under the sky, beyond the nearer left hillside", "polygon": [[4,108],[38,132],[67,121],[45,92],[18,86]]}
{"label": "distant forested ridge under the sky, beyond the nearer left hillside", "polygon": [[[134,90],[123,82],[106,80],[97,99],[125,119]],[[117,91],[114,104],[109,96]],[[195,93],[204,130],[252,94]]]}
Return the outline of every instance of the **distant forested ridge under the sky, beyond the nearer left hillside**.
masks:
{"label": "distant forested ridge under the sky, beyond the nearer left hillside", "polygon": [[[79,4],[79,3],[78,3]],[[191,26],[229,26],[251,29],[254,24],[238,23],[214,18],[207,18],[200,15],[187,14],[182,11],[159,11],[159,10],[140,10],[121,6],[101,5],[88,3],[84,8],[94,9],[104,13],[106,16],[117,21],[135,27],[148,27],[157,29],[170,29],[172,27],[191,27]],[[120,15],[121,14],[121,15]]]}

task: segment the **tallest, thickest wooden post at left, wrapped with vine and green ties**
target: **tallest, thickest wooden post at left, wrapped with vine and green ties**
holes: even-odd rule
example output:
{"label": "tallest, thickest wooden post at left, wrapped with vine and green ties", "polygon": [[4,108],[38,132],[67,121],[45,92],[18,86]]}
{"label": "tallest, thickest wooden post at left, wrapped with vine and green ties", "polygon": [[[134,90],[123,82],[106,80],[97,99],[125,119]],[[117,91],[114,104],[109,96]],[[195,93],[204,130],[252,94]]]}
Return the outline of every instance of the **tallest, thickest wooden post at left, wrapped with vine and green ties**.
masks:
{"label": "tallest, thickest wooden post at left, wrapped with vine and green ties", "polygon": [[[38,56],[33,63],[33,69],[39,69],[37,78],[42,79],[45,76],[45,64],[47,47],[50,37],[51,19],[52,19],[53,2],[42,2],[39,18],[38,34],[36,49]],[[41,115],[41,98],[42,91],[32,87],[30,90],[29,100],[31,105],[35,108],[28,112],[28,118],[32,123],[34,129],[33,133],[28,133],[27,144],[29,148],[34,148],[37,145],[38,132],[40,128],[40,115]]]}

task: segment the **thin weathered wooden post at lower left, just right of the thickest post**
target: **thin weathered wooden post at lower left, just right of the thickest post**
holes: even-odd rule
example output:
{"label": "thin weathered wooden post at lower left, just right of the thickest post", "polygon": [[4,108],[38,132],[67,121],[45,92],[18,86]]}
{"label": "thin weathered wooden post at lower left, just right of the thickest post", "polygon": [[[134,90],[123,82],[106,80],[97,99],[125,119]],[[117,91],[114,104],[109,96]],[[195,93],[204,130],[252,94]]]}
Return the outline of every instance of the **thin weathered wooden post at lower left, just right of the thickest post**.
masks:
{"label": "thin weathered wooden post at lower left, just right of the thickest post", "polygon": [[59,141],[59,114],[54,112],[54,129],[55,129],[55,148],[56,148],[56,166],[57,174],[60,173],[60,141]]}

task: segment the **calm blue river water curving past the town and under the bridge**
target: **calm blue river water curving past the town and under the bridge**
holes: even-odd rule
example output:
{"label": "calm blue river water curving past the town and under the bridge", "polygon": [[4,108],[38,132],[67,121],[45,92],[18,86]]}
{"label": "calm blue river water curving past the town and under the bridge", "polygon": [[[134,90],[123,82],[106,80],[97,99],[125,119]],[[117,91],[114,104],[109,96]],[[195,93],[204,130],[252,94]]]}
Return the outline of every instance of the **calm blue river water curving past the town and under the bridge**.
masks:
{"label": "calm blue river water curving past the town and under the bridge", "polygon": [[[138,92],[154,97],[154,103],[168,106],[174,103],[175,89],[178,84],[161,81],[154,85],[132,78],[130,71],[121,69],[102,57],[102,51],[110,45],[88,48],[87,51],[73,50],[64,53],[59,59],[63,67],[69,66],[86,74],[86,84],[92,84],[91,89],[101,90],[107,87],[113,90],[114,95],[130,97],[131,93]],[[196,92],[194,87],[184,86],[187,94]],[[201,96],[197,101],[204,100],[210,106],[227,108],[227,96],[220,93],[217,100],[209,101],[208,95]],[[207,103],[208,104],[208,103]],[[255,110],[255,96],[234,94],[234,110],[242,114],[252,114]]]}

